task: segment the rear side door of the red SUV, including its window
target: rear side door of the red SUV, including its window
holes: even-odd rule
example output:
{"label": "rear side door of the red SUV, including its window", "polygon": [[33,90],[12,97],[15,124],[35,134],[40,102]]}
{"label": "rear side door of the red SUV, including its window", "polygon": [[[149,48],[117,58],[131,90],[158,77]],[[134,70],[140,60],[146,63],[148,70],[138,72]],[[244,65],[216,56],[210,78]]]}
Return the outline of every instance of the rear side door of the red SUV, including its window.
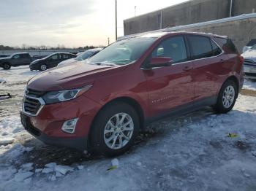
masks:
{"label": "rear side door of the red SUV, including its window", "polygon": [[208,98],[208,101],[214,102],[219,90],[222,63],[227,60],[227,56],[208,36],[187,35],[187,40],[195,67],[192,72],[195,81],[195,101]]}

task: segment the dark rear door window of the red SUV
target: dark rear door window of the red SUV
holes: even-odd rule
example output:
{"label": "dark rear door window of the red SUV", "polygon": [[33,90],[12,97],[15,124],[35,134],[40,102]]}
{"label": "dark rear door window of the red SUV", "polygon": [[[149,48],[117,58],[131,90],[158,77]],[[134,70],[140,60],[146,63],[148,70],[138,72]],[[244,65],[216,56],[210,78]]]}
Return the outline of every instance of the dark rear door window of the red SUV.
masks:
{"label": "dark rear door window of the red SUV", "polygon": [[192,59],[211,57],[211,41],[205,36],[188,36]]}

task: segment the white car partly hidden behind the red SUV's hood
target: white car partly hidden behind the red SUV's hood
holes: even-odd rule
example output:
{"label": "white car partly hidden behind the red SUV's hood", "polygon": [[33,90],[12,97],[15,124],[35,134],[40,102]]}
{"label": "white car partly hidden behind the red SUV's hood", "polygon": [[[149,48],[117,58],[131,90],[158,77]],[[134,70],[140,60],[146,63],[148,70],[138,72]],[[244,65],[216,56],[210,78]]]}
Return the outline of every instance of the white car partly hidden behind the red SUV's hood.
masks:
{"label": "white car partly hidden behind the red SUV's hood", "polygon": [[79,52],[76,58],[71,58],[69,60],[63,61],[58,64],[58,66],[64,66],[70,63],[75,63],[77,61],[84,61],[87,58],[91,58],[91,56],[96,55],[102,48],[94,48],[94,49],[89,49],[86,50],[85,52]]}

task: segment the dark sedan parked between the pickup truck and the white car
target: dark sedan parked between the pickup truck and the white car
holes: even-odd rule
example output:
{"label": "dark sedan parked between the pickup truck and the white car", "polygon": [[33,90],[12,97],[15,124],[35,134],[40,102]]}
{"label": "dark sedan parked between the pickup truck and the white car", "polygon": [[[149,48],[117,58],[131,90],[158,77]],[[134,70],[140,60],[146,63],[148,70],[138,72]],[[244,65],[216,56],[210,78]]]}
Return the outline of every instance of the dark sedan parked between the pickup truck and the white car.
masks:
{"label": "dark sedan parked between the pickup truck and the white car", "polygon": [[31,62],[29,68],[30,70],[44,71],[46,69],[58,66],[58,64],[62,61],[75,57],[76,55],[70,53],[53,53],[45,58],[37,59],[36,61]]}

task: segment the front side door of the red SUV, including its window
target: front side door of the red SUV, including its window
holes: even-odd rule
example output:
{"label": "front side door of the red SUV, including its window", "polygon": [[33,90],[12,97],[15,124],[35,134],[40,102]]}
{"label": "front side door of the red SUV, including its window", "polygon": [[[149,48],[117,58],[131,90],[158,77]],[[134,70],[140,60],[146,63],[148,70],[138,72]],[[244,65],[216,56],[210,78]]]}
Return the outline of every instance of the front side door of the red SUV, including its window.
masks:
{"label": "front side door of the red SUV, including its window", "polygon": [[191,77],[192,62],[187,61],[184,36],[163,40],[151,53],[151,58],[155,57],[172,58],[173,65],[144,70],[152,114],[165,114],[170,109],[191,103],[195,84]]}

